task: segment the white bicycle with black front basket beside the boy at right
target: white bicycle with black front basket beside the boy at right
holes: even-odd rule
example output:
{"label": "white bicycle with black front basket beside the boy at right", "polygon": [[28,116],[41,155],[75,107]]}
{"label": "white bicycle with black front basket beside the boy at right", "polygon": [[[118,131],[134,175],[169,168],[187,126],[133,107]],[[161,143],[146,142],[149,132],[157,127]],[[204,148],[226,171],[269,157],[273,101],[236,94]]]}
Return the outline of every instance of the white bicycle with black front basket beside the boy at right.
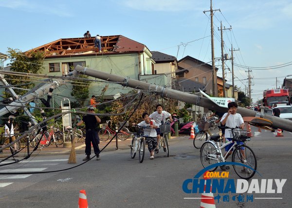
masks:
{"label": "white bicycle with black front basket beside the boy at right", "polygon": [[[243,179],[249,179],[254,176],[256,173],[256,156],[253,150],[245,145],[245,144],[237,144],[237,141],[248,141],[250,140],[251,133],[246,130],[239,130],[238,128],[229,128],[229,127],[223,127],[231,129],[231,133],[233,135],[233,139],[229,142],[219,145],[219,138],[220,135],[214,135],[210,138],[210,140],[205,141],[203,145],[201,146],[200,151],[200,158],[201,163],[204,168],[206,168],[209,165],[216,164],[219,162],[225,162],[227,157],[229,156],[229,152],[233,150],[232,153],[232,162],[242,163],[244,165],[247,165],[251,168],[242,167],[238,165],[233,165],[235,173]],[[225,156],[222,155],[222,149],[227,146],[228,144],[233,143],[232,147],[227,151]],[[239,168],[238,168],[239,167]],[[218,168],[212,168],[209,171],[215,171]],[[229,167],[228,167],[229,168]],[[221,167],[223,170],[223,167]]]}

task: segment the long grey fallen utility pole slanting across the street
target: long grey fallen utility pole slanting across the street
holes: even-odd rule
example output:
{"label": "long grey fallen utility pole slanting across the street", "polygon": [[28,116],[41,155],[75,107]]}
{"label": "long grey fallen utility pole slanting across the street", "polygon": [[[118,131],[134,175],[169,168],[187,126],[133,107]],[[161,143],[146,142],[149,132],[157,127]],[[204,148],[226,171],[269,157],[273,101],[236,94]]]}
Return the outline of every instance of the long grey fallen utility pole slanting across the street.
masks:
{"label": "long grey fallen utility pole slanting across the street", "polygon": [[[106,80],[109,82],[119,82],[123,83],[121,85],[125,87],[132,87],[135,89],[145,89],[152,92],[155,92],[157,94],[160,94],[162,97],[171,98],[179,101],[183,101],[186,103],[191,103],[195,105],[199,105],[202,107],[206,107],[210,110],[215,110],[219,112],[227,112],[227,108],[221,107],[214,103],[213,101],[209,100],[208,98],[202,98],[197,95],[188,94],[185,92],[181,92],[178,90],[161,87],[157,85],[152,85],[146,82],[141,82],[138,80],[130,79],[128,77],[122,77],[115,74],[110,74],[107,72],[99,71],[96,69],[89,69],[87,67],[81,67],[80,65],[77,65],[75,67],[75,71],[81,74],[85,74],[91,77],[95,77],[98,79]],[[75,71],[73,71],[73,76],[75,75]],[[279,117],[275,117],[271,114],[267,113],[259,113],[254,110],[246,109],[243,107],[238,107],[237,112],[240,113],[243,117],[260,117],[260,118],[266,118],[273,122],[274,128],[280,128],[284,129],[286,131],[292,132],[292,121],[287,119],[281,119]]]}

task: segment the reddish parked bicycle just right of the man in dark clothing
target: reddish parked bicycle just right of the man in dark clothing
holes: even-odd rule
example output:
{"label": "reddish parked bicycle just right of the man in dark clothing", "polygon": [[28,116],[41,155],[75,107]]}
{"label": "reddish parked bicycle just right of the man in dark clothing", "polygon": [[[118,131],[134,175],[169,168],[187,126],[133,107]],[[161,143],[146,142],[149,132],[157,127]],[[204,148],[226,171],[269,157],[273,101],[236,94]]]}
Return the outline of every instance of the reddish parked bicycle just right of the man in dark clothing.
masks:
{"label": "reddish parked bicycle just right of the man in dark clothing", "polygon": [[[108,140],[110,138],[110,134],[114,135],[116,133],[115,131],[110,129],[109,127],[110,121],[111,120],[106,121],[106,123],[100,124],[101,129],[98,131],[98,137],[101,141]],[[126,127],[123,127],[117,135],[117,137],[122,141],[128,139],[129,136],[130,136],[130,131]]]}

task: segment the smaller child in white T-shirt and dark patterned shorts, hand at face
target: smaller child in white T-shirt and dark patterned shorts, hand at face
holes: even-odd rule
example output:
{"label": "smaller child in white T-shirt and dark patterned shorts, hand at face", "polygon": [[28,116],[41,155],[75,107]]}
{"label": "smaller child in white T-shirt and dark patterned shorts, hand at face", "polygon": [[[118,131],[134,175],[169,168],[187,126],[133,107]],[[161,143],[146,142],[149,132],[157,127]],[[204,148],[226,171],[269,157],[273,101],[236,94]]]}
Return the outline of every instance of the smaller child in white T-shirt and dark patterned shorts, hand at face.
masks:
{"label": "smaller child in white T-shirt and dark patterned shorts, hand at face", "polygon": [[154,120],[150,120],[148,113],[143,113],[142,118],[144,121],[138,123],[140,127],[150,126],[150,134],[146,137],[146,142],[148,146],[148,150],[150,152],[150,159],[154,159],[154,149],[157,146],[157,133],[155,129],[158,128],[156,122]]}

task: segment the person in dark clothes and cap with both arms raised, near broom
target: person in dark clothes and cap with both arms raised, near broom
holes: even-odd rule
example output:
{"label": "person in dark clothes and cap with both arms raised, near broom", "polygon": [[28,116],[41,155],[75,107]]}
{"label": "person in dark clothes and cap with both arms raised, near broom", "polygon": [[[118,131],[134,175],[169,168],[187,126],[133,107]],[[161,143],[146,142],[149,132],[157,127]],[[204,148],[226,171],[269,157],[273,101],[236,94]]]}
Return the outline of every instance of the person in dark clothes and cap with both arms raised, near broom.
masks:
{"label": "person in dark clothes and cap with both arms raised, near broom", "polygon": [[[89,107],[88,108],[89,113],[94,113],[94,108]],[[85,115],[81,121],[77,123],[77,126],[80,126],[82,123],[85,123],[85,129],[86,129],[86,136],[85,136],[85,154],[86,157],[83,159],[83,161],[87,161],[90,159],[91,155],[91,143],[93,146],[94,154],[96,155],[96,160],[100,160],[99,158],[99,137],[97,134],[97,123],[100,123],[101,120],[95,115],[87,114]]]}

